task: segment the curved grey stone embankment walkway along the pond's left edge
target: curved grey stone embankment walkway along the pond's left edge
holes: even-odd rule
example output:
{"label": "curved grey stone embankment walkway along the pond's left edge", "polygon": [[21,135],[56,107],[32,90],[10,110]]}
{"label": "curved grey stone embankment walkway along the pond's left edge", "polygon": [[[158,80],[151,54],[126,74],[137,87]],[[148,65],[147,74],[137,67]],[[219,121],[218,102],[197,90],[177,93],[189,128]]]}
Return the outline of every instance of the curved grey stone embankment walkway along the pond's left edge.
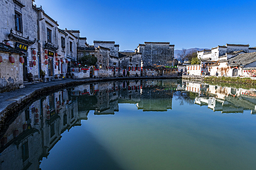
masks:
{"label": "curved grey stone embankment walkway along the pond's left edge", "polygon": [[51,92],[59,91],[68,87],[82,85],[84,83],[98,83],[106,81],[122,81],[122,80],[138,80],[138,79],[167,79],[181,78],[179,76],[149,76],[149,77],[116,77],[116,78],[87,78],[74,80],[66,78],[62,81],[51,81],[47,83],[34,83],[26,85],[22,89],[17,89],[12,92],[4,92],[0,94],[0,122],[6,121],[6,117],[12,118],[12,115],[42,96]]}

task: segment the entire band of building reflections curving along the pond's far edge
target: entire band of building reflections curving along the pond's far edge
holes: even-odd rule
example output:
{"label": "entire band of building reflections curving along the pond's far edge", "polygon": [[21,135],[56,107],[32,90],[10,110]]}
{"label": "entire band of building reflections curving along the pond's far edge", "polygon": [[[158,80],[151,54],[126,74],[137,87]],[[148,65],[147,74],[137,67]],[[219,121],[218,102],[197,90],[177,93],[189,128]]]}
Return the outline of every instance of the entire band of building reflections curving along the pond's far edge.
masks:
{"label": "entire band of building reflections curving along the pond's far edge", "polygon": [[235,89],[180,80],[112,81],[64,89],[36,100],[1,125],[0,169],[39,169],[40,161],[62,138],[62,133],[89,111],[115,114],[118,103],[134,103],[143,111],[172,109],[172,98],[207,105],[222,113],[256,111],[256,90]]}

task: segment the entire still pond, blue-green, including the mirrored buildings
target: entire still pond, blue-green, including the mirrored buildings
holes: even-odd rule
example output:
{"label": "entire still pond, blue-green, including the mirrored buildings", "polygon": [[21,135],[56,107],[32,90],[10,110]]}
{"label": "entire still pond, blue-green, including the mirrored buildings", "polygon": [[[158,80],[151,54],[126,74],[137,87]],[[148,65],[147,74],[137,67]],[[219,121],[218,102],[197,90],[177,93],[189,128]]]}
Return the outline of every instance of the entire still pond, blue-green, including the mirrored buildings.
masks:
{"label": "entire still pond, blue-green, including the mirrored buildings", "polygon": [[1,125],[0,169],[255,169],[255,109],[255,89],[80,85]]}

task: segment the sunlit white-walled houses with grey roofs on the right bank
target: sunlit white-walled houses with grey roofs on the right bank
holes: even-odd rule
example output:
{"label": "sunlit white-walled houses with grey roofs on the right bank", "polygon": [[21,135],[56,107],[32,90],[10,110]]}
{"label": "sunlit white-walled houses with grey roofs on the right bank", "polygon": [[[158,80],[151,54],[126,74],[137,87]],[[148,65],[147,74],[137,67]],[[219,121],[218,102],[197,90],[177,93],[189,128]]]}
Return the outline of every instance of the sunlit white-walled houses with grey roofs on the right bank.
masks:
{"label": "sunlit white-walled houses with grey roofs on the right bank", "polygon": [[212,50],[197,52],[200,65],[187,65],[190,75],[256,76],[256,48],[249,45],[226,44]]}

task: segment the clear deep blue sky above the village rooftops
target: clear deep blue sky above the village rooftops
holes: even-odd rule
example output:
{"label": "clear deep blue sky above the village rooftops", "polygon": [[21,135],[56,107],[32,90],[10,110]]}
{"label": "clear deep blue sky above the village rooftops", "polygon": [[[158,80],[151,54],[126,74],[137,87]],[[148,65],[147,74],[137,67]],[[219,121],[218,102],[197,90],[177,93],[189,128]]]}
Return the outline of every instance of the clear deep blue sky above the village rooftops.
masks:
{"label": "clear deep blue sky above the village rooftops", "polygon": [[226,43],[256,46],[256,1],[215,0],[36,0],[59,28],[80,30],[94,40],[116,41],[120,51],[145,41],[163,41],[175,50]]}

